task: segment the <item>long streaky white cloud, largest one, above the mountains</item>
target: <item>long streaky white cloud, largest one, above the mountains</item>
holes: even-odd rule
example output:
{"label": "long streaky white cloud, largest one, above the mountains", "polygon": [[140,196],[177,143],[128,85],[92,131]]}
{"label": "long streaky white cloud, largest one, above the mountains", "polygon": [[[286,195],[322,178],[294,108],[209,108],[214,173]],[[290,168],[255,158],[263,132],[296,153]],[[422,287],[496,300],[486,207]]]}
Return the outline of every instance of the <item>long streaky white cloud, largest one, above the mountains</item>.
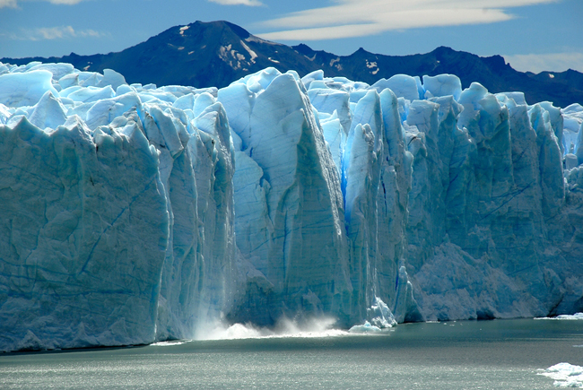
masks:
{"label": "long streaky white cloud, largest one, above the mountains", "polygon": [[387,30],[508,21],[507,9],[561,0],[335,0],[333,5],[288,13],[261,23],[272,40],[362,37]]}

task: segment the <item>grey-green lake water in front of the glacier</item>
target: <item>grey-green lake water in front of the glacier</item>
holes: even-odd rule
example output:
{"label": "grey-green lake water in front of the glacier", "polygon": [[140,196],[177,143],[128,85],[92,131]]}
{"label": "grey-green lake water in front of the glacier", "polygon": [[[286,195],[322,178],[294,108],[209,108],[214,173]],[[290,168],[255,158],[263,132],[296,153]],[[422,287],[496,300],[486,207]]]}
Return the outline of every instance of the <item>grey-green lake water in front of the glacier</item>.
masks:
{"label": "grey-green lake water in front of the glacier", "polygon": [[[583,366],[583,321],[397,325],[116,349],[0,354],[2,389],[551,389]],[[572,366],[570,366],[572,368]],[[547,373],[553,377],[542,374]],[[579,374],[581,374],[579,372]]]}

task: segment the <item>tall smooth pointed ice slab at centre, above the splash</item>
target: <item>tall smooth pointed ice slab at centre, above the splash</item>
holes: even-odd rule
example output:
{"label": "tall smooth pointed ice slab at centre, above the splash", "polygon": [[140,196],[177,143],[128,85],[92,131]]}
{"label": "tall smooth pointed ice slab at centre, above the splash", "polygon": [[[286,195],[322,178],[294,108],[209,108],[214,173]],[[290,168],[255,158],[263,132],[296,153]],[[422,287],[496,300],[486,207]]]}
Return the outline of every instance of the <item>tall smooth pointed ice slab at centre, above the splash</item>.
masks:
{"label": "tall smooth pointed ice slab at centre, above the splash", "polygon": [[231,317],[262,325],[304,310],[343,317],[350,282],[342,194],[299,77],[266,69],[218,99],[241,141],[237,245],[257,270],[240,287]]}

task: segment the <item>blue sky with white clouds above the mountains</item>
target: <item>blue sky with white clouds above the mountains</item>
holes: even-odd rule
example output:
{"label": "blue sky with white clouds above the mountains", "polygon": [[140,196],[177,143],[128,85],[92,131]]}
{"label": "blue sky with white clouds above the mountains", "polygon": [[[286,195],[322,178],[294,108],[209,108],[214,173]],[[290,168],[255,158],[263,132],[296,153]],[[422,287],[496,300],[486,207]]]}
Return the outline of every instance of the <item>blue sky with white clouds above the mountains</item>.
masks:
{"label": "blue sky with white clouds above the mountains", "polygon": [[341,56],[448,46],[523,72],[583,72],[583,0],[0,0],[0,57],[117,52],[216,20]]}

